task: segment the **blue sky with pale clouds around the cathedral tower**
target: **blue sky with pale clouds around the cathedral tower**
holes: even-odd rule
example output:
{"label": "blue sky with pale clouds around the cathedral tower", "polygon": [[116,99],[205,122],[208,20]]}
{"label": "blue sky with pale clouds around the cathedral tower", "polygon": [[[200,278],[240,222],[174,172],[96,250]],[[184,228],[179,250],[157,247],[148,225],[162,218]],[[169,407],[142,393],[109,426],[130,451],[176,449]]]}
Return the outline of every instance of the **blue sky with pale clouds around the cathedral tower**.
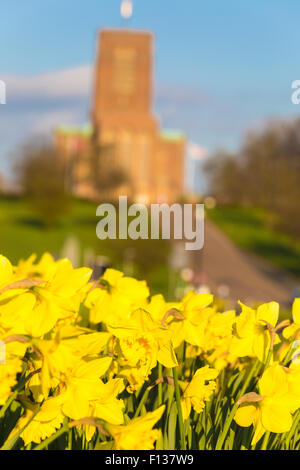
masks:
{"label": "blue sky with pale clouds around the cathedral tower", "polygon": [[[97,31],[155,33],[155,112],[207,149],[235,149],[249,128],[298,115],[298,0],[1,0],[0,171],[32,134],[88,118]],[[197,182],[199,183],[199,181]],[[200,181],[201,184],[201,181]]]}

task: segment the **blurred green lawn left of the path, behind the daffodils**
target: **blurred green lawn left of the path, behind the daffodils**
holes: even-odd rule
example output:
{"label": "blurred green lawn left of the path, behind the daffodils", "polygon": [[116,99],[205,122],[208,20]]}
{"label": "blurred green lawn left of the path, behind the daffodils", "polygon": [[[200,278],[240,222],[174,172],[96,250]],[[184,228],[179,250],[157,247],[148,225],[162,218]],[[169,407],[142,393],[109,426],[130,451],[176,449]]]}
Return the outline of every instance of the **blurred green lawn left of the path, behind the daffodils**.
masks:
{"label": "blurred green lawn left of the path, behind the daffodils", "polygon": [[130,274],[146,279],[152,293],[168,296],[169,270],[167,260],[169,243],[165,240],[99,240],[96,236],[96,204],[75,201],[71,212],[55,227],[45,229],[22,199],[0,197],[0,253],[13,263],[45,251],[56,257],[69,236],[78,240],[81,260],[85,249],[106,256],[114,268],[124,270],[130,266]]}

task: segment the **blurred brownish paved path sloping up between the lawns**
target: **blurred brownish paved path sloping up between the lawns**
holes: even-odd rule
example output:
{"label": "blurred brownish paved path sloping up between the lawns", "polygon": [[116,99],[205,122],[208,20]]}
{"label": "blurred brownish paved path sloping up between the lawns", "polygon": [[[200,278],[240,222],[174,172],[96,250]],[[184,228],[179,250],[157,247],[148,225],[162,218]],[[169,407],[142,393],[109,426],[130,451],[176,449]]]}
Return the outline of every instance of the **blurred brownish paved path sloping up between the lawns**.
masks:
{"label": "blurred brownish paved path sloping up between the lawns", "polygon": [[213,291],[223,285],[229,298],[245,303],[276,300],[289,306],[300,282],[255,255],[243,252],[206,219],[204,248],[195,256],[194,267],[205,273]]}

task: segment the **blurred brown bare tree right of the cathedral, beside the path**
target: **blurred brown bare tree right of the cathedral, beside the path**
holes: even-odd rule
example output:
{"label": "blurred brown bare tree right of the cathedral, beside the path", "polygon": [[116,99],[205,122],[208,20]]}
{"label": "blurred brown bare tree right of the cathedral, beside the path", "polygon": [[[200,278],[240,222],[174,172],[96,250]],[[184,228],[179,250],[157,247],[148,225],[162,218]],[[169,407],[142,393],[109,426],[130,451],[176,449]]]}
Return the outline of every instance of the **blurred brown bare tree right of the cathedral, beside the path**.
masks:
{"label": "blurred brown bare tree right of the cathedral, beside the path", "polygon": [[220,202],[265,208],[277,226],[300,235],[300,118],[269,122],[237,154],[218,152],[205,169]]}

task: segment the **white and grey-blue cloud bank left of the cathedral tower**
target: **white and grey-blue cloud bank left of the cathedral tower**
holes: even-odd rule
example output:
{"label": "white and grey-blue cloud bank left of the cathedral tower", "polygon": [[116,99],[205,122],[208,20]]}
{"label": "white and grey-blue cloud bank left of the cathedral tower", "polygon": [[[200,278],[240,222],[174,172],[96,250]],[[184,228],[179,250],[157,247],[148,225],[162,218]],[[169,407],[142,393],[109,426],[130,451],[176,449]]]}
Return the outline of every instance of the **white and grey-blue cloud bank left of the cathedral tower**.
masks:
{"label": "white and grey-blue cloud bank left of the cathedral tower", "polygon": [[88,120],[92,67],[1,79],[6,83],[7,104],[0,108],[0,171],[10,176],[12,154],[24,141],[49,137],[59,125]]}

